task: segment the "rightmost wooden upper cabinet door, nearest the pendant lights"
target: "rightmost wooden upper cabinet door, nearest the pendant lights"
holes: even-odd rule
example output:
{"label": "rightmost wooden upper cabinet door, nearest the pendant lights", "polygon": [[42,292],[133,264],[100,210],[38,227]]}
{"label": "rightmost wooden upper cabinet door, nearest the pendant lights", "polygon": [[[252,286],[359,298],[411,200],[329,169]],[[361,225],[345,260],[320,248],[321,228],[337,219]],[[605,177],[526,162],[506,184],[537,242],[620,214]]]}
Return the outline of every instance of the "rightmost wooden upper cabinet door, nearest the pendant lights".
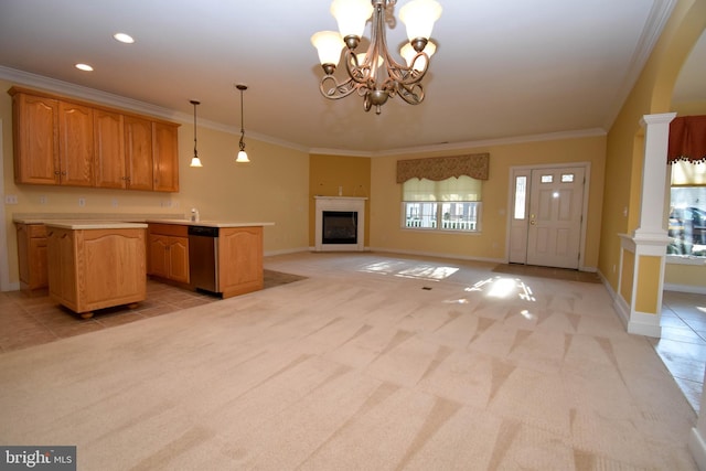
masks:
{"label": "rightmost wooden upper cabinet door, nearest the pendant lights", "polygon": [[153,122],[153,175],[154,191],[179,191],[179,142],[174,125]]}

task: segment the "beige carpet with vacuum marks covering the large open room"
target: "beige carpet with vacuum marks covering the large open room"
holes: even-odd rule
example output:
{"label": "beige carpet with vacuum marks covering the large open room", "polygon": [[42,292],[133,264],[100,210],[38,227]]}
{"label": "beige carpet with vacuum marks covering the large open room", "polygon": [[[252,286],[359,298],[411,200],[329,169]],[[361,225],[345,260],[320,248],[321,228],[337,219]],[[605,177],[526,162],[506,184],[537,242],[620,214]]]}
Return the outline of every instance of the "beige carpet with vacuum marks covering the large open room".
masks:
{"label": "beige carpet with vacuum marks covering the large open room", "polygon": [[0,442],[79,470],[694,470],[599,283],[297,254],[307,279],[0,355]]}

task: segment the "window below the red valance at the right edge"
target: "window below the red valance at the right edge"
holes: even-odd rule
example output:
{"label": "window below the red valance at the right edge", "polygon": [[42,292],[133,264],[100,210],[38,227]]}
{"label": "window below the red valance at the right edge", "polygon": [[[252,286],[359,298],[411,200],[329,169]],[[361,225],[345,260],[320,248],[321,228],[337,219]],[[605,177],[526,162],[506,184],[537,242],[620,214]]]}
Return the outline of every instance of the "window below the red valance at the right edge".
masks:
{"label": "window below the red valance at the right edge", "polygon": [[667,254],[706,257],[706,163],[672,164]]}

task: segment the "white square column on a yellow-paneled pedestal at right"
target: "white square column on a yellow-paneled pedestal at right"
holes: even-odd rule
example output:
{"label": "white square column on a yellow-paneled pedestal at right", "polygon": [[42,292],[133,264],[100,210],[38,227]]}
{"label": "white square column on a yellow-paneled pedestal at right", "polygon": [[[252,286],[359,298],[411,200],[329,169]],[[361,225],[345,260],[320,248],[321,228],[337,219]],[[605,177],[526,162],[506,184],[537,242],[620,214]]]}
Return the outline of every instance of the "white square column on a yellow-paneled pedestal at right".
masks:
{"label": "white square column on a yellow-paneled pedestal at right", "polygon": [[645,115],[640,121],[644,128],[640,226],[632,235],[619,234],[618,311],[628,332],[655,338],[662,335],[664,263],[670,242],[663,227],[666,153],[670,122],[675,116],[675,113]]}

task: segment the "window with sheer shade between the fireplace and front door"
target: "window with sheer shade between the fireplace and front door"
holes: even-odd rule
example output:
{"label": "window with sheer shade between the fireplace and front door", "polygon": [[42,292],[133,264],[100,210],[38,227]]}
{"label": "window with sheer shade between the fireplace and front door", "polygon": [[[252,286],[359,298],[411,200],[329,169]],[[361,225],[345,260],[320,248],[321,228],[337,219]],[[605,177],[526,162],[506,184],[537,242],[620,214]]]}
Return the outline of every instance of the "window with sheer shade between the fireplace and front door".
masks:
{"label": "window with sheer shade between the fireplace and front door", "polygon": [[481,180],[467,175],[403,183],[403,227],[480,232]]}

